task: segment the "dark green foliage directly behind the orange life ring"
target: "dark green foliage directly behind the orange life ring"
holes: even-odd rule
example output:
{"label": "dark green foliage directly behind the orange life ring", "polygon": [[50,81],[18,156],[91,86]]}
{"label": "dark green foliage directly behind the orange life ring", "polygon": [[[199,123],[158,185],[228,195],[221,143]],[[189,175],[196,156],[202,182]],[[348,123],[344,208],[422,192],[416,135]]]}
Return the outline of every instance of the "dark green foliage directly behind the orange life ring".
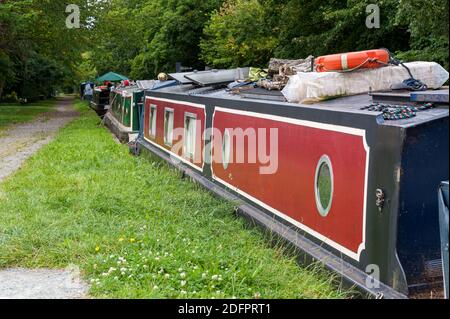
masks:
{"label": "dark green foliage directly behind the orange life ring", "polygon": [[276,54],[301,58],[309,54],[358,51],[386,47],[393,51],[408,47],[406,28],[394,25],[398,1],[378,1],[379,29],[366,27],[370,0],[291,0],[281,15],[281,39]]}

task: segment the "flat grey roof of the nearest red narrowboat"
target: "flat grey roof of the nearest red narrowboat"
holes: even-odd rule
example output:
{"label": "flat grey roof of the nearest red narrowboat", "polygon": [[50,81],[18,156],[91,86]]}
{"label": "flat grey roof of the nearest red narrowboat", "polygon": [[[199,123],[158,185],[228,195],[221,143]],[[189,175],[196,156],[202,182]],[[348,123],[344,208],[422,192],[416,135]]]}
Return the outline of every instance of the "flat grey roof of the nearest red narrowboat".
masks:
{"label": "flat grey roof of the nearest red narrowboat", "polygon": [[[351,113],[374,115],[377,117],[377,121],[380,124],[386,126],[395,126],[404,128],[416,126],[425,122],[449,116],[448,87],[443,87],[440,90],[428,90],[422,92],[391,91],[381,93],[377,92],[373,94],[360,94],[354,96],[339,97],[336,99],[321,101],[314,104],[289,103],[284,99],[280,91],[268,91],[265,89],[256,89],[256,90],[260,91],[256,92],[254,95],[246,94],[245,93],[246,91],[236,94],[224,88],[217,88],[217,87],[215,88],[211,86],[198,87],[194,84],[180,84],[176,86],[163,88],[158,91],[146,90],[146,95],[151,95],[155,97],[165,97],[165,96],[167,97],[168,95],[171,95],[172,97],[177,98],[182,98],[183,96],[189,97],[196,96],[205,98],[225,99],[230,101],[245,100],[253,103],[265,103],[265,104],[271,103],[273,104],[274,107],[289,106],[300,108],[328,109],[338,112],[350,111]],[[380,96],[382,95],[384,95],[384,99],[380,99]],[[400,120],[384,120],[381,112],[362,110],[363,107],[371,105],[374,102],[382,102],[389,104],[414,104],[416,101],[417,103],[426,102],[426,99],[423,99],[424,101],[420,101],[421,98],[418,98],[417,97],[418,95],[422,97],[423,95],[426,96],[439,95],[441,99],[438,101],[438,103],[435,104],[434,108],[417,112],[415,117]],[[443,99],[442,96],[444,97]]]}

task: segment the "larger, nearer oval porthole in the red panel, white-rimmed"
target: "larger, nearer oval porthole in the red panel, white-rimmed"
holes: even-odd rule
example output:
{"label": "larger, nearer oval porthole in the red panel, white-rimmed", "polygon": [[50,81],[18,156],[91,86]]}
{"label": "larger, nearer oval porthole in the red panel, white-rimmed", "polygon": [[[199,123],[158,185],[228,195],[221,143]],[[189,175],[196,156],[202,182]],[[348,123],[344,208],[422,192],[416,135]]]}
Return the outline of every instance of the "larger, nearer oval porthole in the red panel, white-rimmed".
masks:
{"label": "larger, nearer oval porthole in the red panel, white-rimmed", "polygon": [[333,202],[333,167],[327,155],[322,156],[317,164],[314,189],[317,210],[326,217]]}

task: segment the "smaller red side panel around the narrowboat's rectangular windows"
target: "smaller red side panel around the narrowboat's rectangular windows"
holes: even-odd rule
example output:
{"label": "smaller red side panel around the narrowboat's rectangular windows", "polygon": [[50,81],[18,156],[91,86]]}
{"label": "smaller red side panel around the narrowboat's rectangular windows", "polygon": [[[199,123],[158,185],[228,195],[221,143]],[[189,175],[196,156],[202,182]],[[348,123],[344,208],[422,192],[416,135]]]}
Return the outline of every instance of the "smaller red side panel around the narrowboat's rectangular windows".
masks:
{"label": "smaller red side panel around the narrowboat's rectangular windows", "polygon": [[[152,138],[150,136],[149,128],[150,128],[150,105],[156,105],[156,138]],[[196,159],[187,159],[183,157],[183,148],[177,147],[176,149],[165,145],[164,143],[164,113],[165,109],[170,108],[174,110],[174,132],[176,129],[180,132],[178,136],[174,134],[174,140],[172,145],[182,146],[184,139],[184,116],[186,113],[195,114],[197,118],[197,128],[196,128]],[[161,101],[157,99],[146,99],[145,100],[145,108],[144,108],[144,136],[146,139],[157,143],[159,146],[163,147],[167,151],[174,152],[178,156],[189,160],[189,162],[193,163],[195,166],[202,168],[203,167],[203,149],[204,142],[202,141],[202,132],[205,130],[205,110],[200,107],[195,107],[183,103],[177,103],[175,101]]]}

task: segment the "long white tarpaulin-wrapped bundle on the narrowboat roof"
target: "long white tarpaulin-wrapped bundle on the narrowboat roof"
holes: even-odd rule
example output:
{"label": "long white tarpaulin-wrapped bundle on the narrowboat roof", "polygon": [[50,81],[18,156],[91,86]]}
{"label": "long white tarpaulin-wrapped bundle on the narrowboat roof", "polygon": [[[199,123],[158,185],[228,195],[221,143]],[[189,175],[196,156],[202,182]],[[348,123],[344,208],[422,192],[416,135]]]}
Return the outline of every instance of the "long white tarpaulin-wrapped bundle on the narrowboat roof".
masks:
{"label": "long white tarpaulin-wrapped bundle on the narrowboat roof", "polygon": [[[438,89],[449,73],[435,62],[405,63],[417,80],[429,89]],[[387,66],[350,73],[310,72],[293,75],[282,93],[289,102],[314,103],[338,96],[356,95],[372,91],[386,91],[410,78],[402,66]]]}

